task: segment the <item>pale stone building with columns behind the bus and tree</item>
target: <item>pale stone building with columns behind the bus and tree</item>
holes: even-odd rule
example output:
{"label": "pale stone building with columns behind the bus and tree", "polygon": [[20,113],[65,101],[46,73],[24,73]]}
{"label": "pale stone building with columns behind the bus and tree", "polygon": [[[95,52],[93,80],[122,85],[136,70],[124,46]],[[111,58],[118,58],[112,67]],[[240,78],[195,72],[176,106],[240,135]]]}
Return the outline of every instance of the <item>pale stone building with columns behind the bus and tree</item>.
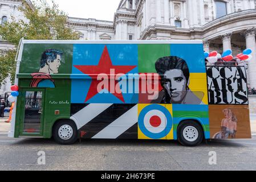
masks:
{"label": "pale stone building with columns behind the bus and tree", "polygon": [[[1,21],[23,18],[21,2],[0,0]],[[113,21],[69,17],[67,23],[83,40],[202,39],[205,51],[232,49],[233,55],[251,48],[249,86],[256,88],[255,7],[256,0],[121,0]],[[0,40],[0,49],[8,46]]]}

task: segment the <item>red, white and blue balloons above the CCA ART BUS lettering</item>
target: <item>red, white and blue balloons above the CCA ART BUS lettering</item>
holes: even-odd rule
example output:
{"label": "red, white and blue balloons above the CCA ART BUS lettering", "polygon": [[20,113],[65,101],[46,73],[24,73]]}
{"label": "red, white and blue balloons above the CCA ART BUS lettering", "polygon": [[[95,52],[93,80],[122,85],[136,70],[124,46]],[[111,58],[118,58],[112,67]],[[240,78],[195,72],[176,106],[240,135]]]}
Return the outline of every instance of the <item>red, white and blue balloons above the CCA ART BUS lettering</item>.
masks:
{"label": "red, white and blue balloons above the CCA ART BUS lettering", "polygon": [[[236,58],[242,60],[242,61],[249,61],[251,60],[251,49],[245,49],[243,53],[239,53]],[[221,59],[222,61],[231,61],[234,59],[232,56],[232,51],[230,49],[227,49],[220,55],[217,51],[213,52],[205,52],[205,59],[209,61],[209,63],[216,63],[218,59]]]}

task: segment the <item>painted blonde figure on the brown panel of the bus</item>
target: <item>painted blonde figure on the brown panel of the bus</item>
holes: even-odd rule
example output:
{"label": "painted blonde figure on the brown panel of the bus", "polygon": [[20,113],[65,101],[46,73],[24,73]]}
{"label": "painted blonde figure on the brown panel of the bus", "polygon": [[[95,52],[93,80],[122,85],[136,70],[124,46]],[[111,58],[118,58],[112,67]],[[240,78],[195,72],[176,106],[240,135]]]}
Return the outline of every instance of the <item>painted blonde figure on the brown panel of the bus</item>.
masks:
{"label": "painted blonde figure on the brown panel of the bus", "polygon": [[237,133],[237,117],[231,109],[224,109],[224,119],[221,122],[221,131],[216,133],[213,138],[215,139],[227,139],[235,138]]}

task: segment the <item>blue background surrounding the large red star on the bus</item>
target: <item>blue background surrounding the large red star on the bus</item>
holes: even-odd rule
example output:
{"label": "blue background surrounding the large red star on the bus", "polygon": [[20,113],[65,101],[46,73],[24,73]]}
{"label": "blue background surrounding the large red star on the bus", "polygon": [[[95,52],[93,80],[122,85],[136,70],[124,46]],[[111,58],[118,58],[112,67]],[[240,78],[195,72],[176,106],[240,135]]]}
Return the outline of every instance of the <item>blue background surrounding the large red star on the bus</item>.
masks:
{"label": "blue background surrounding the large red star on the bus", "polygon": [[[96,66],[99,65],[101,55],[105,46],[107,47],[109,57],[113,66],[135,66],[126,74],[138,72],[138,48],[136,44],[74,44],[73,66],[72,66],[72,84],[71,84],[71,103],[84,103],[87,98],[88,91],[92,84],[92,78],[83,73],[74,66]],[[104,67],[104,66],[103,66]],[[104,73],[104,72],[103,72]],[[117,74],[117,73],[115,73]],[[127,76],[123,76],[124,79]],[[79,79],[80,78],[80,79]],[[125,82],[125,81],[121,81]],[[126,80],[128,83],[128,79]],[[125,93],[125,87],[120,85],[124,102],[112,93],[96,93],[86,103],[113,103],[113,104],[136,104],[139,101],[139,82],[133,81],[133,92]],[[131,90],[128,88],[127,90]]]}

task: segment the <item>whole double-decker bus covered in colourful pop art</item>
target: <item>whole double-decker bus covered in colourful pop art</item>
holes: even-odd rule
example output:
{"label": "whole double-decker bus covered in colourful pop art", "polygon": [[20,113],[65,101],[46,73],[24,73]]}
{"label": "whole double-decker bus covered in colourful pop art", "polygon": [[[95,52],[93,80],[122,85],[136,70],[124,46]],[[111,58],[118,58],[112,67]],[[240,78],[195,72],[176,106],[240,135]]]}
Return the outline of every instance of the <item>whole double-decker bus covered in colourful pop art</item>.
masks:
{"label": "whole double-decker bus covered in colourful pop art", "polygon": [[206,67],[200,40],[22,40],[9,137],[251,138],[244,67]]}

